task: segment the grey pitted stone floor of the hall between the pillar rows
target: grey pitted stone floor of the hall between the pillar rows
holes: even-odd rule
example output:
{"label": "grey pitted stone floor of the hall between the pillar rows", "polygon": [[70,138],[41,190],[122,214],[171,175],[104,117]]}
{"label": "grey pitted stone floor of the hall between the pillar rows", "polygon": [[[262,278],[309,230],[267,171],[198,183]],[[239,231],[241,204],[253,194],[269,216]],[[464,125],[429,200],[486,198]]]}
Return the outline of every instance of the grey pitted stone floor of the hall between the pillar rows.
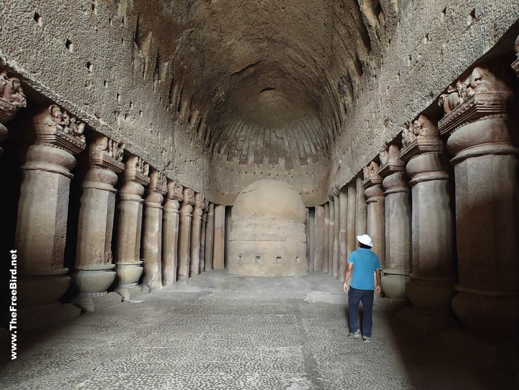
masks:
{"label": "grey pitted stone floor of the hall between the pillar rows", "polygon": [[[204,273],[66,325],[24,332],[2,389],[505,389],[415,334],[384,299],[349,340],[342,284],[322,274]],[[6,348],[7,349],[7,348]]]}

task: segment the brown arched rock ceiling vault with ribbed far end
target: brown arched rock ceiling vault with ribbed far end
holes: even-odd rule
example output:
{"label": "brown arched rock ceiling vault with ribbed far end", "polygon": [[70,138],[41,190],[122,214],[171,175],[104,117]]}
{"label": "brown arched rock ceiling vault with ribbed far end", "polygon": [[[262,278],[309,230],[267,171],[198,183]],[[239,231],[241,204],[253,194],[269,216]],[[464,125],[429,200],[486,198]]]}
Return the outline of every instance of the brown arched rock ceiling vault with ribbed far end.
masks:
{"label": "brown arched rock ceiling vault with ribbed far end", "polygon": [[385,23],[377,0],[141,1],[138,57],[155,54],[170,108],[200,145],[240,164],[327,156],[369,61],[370,35]]}

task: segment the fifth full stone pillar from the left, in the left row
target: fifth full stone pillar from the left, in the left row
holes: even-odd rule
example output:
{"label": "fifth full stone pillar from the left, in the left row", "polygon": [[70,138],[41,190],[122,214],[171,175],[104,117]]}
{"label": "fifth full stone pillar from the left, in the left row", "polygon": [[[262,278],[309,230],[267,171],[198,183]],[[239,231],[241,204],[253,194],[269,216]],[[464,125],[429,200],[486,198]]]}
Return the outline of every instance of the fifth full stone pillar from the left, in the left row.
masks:
{"label": "fifth full stone pillar from the left, in the left row", "polygon": [[162,223],[162,284],[176,281],[177,248],[179,243],[179,200],[184,197],[182,184],[168,182],[168,194],[164,204]]}

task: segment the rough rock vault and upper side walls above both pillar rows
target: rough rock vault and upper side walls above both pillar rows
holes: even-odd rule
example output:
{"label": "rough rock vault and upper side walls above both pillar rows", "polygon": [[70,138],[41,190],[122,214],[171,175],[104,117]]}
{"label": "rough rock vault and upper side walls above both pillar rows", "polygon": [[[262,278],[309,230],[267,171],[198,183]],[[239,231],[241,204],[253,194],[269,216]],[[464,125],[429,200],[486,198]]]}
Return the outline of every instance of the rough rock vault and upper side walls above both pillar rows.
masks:
{"label": "rough rock vault and upper side walls above both pillar rows", "polygon": [[279,177],[307,206],[517,35],[519,12],[514,0],[4,3],[0,65],[29,97],[216,203]]}

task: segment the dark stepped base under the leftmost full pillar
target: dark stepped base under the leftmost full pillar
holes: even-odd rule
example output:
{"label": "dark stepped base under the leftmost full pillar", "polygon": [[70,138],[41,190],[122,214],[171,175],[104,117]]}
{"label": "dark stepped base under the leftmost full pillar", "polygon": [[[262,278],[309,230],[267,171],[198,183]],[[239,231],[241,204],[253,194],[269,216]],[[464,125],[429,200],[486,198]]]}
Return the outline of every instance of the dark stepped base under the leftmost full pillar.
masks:
{"label": "dark stepped base under the leftmost full pillar", "polygon": [[24,308],[18,311],[20,329],[38,329],[50,325],[63,324],[64,321],[78,317],[81,309],[71,303],[57,302],[46,306]]}

